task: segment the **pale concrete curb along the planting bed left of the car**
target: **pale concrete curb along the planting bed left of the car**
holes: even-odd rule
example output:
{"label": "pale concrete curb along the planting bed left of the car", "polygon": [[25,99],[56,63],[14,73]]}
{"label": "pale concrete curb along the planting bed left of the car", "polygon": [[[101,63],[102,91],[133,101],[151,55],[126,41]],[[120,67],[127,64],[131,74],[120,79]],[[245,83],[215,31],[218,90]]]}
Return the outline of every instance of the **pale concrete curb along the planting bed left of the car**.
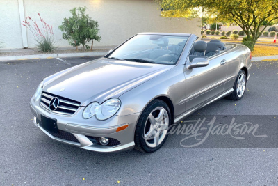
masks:
{"label": "pale concrete curb along the planting bed left of the car", "polygon": [[28,60],[28,59],[51,59],[51,58],[67,58],[67,57],[83,57],[83,56],[104,56],[108,52],[84,52],[84,53],[67,53],[67,54],[37,54],[25,56],[3,56],[0,57],[0,63],[12,60]]}

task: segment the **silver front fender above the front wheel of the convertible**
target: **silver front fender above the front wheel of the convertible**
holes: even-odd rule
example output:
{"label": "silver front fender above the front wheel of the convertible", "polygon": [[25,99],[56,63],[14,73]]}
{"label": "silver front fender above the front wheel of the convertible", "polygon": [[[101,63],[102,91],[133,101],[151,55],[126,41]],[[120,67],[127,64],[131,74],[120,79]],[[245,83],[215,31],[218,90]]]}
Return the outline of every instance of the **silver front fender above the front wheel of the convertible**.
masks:
{"label": "silver front fender above the front wheel of the convertible", "polygon": [[184,80],[183,65],[177,65],[162,75],[150,79],[148,82],[133,88],[119,97],[122,107],[117,112],[117,115],[140,114],[149,102],[161,96],[167,97],[172,101],[174,115],[181,114],[185,111],[185,106],[178,103],[186,96]]}

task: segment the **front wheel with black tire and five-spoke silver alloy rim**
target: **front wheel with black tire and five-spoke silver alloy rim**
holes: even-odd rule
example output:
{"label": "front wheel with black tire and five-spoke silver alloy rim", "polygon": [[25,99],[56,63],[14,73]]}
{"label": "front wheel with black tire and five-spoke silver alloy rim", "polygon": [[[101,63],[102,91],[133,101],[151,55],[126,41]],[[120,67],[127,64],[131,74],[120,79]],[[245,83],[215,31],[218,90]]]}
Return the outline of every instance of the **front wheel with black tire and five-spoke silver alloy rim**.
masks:
{"label": "front wheel with black tire and five-spoke silver alloy rim", "polygon": [[162,100],[153,100],[142,112],[135,132],[135,149],[142,153],[154,153],[167,139],[172,121],[170,109]]}

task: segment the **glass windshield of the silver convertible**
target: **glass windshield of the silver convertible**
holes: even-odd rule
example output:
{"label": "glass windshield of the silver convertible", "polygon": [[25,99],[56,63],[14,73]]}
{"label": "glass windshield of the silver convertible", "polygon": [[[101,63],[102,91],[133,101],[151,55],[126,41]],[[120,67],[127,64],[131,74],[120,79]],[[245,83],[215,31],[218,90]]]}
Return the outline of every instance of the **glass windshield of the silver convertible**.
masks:
{"label": "glass windshield of the silver convertible", "polygon": [[137,35],[108,56],[110,59],[175,65],[188,36]]}

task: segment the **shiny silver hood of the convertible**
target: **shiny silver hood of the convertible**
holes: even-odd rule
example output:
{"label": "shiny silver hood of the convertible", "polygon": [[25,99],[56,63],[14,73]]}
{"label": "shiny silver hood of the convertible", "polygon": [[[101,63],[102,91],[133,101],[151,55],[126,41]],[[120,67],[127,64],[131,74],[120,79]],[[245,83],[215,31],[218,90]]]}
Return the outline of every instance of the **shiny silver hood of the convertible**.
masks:
{"label": "shiny silver hood of the convertible", "polygon": [[102,103],[170,70],[174,65],[101,58],[64,70],[44,81],[43,91],[81,102]]}

